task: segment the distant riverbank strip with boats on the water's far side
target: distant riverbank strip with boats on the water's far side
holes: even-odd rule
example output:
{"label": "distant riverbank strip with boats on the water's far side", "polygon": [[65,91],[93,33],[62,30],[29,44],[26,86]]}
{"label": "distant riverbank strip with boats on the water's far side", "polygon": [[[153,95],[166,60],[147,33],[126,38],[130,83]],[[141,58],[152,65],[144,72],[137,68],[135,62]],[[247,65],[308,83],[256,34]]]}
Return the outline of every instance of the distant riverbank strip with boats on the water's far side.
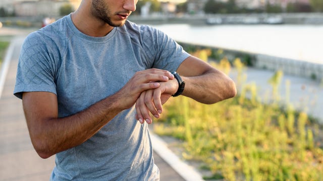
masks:
{"label": "distant riverbank strip with boats on the water's far side", "polygon": [[214,15],[165,15],[165,16],[130,16],[130,21],[139,24],[311,24],[322,25],[323,13],[261,13],[261,14],[214,14]]}

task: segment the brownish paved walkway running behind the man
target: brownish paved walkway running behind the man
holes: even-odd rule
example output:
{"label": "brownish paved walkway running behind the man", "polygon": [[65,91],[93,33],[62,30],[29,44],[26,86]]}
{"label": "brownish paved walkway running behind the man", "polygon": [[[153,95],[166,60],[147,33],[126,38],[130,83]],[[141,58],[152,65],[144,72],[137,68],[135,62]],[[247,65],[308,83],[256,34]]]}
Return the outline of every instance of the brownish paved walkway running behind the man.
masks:
{"label": "brownish paved walkway running behind the man", "polygon": [[[0,181],[43,181],[49,178],[55,165],[55,156],[42,159],[34,151],[23,114],[22,101],[13,96],[18,57],[25,38],[23,33],[19,35],[13,39],[7,52],[12,54],[10,63],[4,62],[2,66],[8,65],[8,69],[0,69],[0,76],[1,72],[5,72],[5,79],[1,81],[0,78]],[[163,159],[166,157],[168,155],[164,155],[163,151],[159,151],[158,154],[154,152],[156,165],[160,169],[160,180],[190,180],[180,176],[173,169],[178,164],[170,165]],[[184,165],[182,170],[185,170],[185,166],[188,165]]]}

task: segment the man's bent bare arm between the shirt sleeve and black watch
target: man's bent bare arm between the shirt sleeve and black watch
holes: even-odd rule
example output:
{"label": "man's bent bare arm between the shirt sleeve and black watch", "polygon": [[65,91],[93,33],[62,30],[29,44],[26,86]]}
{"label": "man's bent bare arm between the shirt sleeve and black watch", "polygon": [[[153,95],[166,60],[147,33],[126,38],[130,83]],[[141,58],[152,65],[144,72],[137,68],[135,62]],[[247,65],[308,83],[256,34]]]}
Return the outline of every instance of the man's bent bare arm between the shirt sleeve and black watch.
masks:
{"label": "man's bent bare arm between the shirt sleeve and black watch", "polygon": [[177,72],[186,82],[183,96],[200,103],[214,104],[237,94],[229,76],[194,56],[184,60]]}

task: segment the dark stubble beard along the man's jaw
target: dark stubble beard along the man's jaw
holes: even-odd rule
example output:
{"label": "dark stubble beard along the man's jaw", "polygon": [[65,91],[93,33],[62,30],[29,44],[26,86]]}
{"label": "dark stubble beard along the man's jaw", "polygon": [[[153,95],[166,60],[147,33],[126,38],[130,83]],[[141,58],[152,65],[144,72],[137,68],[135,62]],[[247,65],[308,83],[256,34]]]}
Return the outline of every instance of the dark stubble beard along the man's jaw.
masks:
{"label": "dark stubble beard along the man's jaw", "polygon": [[120,27],[124,25],[124,22],[115,24],[111,21],[111,12],[109,8],[104,6],[101,0],[92,1],[91,13],[95,18],[105,22],[112,27]]}

